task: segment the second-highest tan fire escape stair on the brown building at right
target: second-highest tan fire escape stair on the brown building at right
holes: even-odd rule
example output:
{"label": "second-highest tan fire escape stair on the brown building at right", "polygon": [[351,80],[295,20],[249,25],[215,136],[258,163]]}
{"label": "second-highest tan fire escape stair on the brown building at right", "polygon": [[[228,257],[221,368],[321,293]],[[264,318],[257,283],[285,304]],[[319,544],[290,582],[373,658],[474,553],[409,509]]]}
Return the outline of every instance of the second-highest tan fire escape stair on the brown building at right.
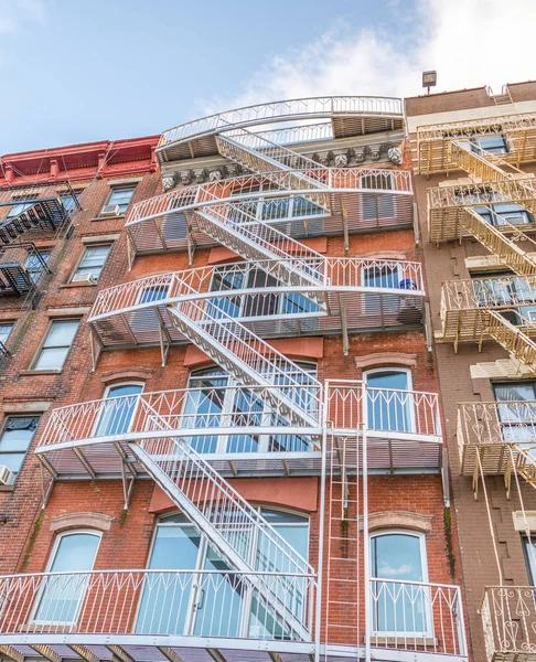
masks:
{"label": "second-highest tan fire escape stair on the brown building at right", "polygon": [[512,231],[512,238],[510,238],[494,225],[487,223],[472,207],[464,207],[463,211],[461,224],[464,229],[489,248],[504,265],[518,276],[536,274],[536,261],[516,244],[516,241],[524,238],[524,235],[515,225],[504,221],[504,225],[510,226]]}

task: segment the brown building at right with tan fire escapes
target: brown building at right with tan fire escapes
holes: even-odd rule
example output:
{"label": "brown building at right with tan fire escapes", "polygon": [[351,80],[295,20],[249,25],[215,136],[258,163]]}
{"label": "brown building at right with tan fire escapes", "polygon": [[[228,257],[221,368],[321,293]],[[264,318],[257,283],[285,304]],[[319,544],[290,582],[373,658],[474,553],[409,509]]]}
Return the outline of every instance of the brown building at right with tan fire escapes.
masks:
{"label": "brown building at right with tan fire escapes", "polygon": [[536,84],[406,99],[475,660],[532,659]]}

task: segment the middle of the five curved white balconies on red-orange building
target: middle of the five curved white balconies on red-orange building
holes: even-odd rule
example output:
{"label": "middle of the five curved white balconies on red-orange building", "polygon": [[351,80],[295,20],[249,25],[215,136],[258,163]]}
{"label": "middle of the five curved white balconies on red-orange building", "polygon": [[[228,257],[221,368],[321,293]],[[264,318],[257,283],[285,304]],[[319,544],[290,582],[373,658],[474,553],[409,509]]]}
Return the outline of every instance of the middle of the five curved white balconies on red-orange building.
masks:
{"label": "middle of the five curved white balconies on red-orange building", "polygon": [[[322,281],[292,285],[289,268],[320,271]],[[169,348],[186,342],[170,308],[189,300],[200,307],[200,323],[229,316],[262,338],[277,338],[420,328],[424,297],[418,263],[289,257],[115,286],[98,293],[88,322],[100,349]]]}

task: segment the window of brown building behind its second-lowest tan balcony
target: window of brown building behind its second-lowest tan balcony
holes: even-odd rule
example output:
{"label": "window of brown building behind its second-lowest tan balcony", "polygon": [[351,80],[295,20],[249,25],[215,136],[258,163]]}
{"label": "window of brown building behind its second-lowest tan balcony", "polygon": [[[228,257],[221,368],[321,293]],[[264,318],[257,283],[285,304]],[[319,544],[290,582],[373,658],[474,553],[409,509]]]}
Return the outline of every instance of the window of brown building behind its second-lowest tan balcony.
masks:
{"label": "window of brown building behind its second-lowest tan balcony", "polygon": [[[536,437],[536,382],[493,384],[502,436],[506,442],[533,442]],[[532,447],[527,448],[534,452]]]}

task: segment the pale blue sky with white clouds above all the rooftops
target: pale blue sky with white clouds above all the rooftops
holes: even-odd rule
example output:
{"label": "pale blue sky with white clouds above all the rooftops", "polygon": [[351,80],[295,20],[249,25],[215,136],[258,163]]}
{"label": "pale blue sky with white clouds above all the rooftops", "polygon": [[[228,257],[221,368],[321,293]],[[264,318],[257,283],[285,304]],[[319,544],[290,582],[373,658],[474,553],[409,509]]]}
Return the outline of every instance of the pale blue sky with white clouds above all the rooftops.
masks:
{"label": "pale blue sky with white clouds above all the rooftops", "polygon": [[440,89],[500,88],[535,77],[534,19],[536,0],[0,0],[0,153],[278,98],[420,94],[422,68]]}

